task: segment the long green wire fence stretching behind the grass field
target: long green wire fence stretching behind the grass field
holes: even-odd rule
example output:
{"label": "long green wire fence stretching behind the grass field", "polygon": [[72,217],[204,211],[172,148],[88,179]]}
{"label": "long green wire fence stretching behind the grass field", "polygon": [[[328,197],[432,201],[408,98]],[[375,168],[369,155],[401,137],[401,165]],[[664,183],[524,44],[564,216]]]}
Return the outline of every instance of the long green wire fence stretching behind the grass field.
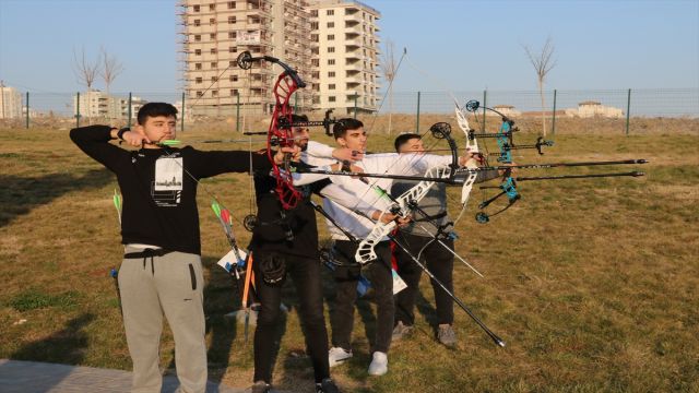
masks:
{"label": "long green wire fence stretching behind the grass field", "polygon": [[[329,102],[317,95],[312,102]],[[347,96],[350,97],[350,96]],[[203,99],[202,99],[203,98]],[[307,97],[305,97],[307,98]],[[357,117],[376,115],[400,115],[415,118],[419,128],[420,116],[445,115],[453,111],[454,102],[463,106],[467,100],[476,99],[481,106],[497,109],[513,119],[541,119],[542,127],[556,131],[556,122],[571,118],[617,119],[625,122],[629,132],[630,118],[699,118],[699,88],[667,90],[581,90],[581,91],[470,91],[470,92],[393,92],[382,97],[363,97],[360,93],[353,99],[342,99],[334,108],[310,107],[310,99],[292,99],[298,111],[322,117],[324,111],[333,109],[336,117]],[[2,111],[2,124],[5,127],[49,127],[72,128],[90,123],[131,124],[135,121],[138,109],[149,102],[174,104],[182,119],[180,127],[185,131],[198,123],[225,120],[226,128],[242,131],[271,112],[272,97],[251,99],[246,95],[233,97],[186,97],[183,93],[33,93],[21,92],[15,96],[4,96],[3,109],[10,106],[10,99],[19,99],[19,111]],[[303,103],[303,104],[299,104]],[[378,103],[375,107],[364,103]],[[490,111],[478,115],[483,128],[486,127]],[[389,122],[390,123],[390,122]],[[386,131],[386,130],[383,130]],[[389,132],[390,132],[389,126]],[[632,130],[630,130],[632,132]]]}

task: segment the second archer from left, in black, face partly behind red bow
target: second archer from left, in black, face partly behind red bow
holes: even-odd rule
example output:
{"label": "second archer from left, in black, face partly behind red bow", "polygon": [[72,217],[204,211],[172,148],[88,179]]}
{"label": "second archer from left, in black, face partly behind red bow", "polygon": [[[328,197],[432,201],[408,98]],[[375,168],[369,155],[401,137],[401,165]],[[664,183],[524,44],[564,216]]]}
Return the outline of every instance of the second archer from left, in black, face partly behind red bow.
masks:
{"label": "second archer from left, in black, face partly behind red bow", "polygon": [[[307,122],[303,115],[294,115],[293,123]],[[305,127],[294,127],[294,144],[305,151],[309,133]],[[309,167],[303,162],[293,165]],[[330,166],[340,170],[341,164]],[[353,169],[358,169],[354,168]],[[275,331],[280,321],[282,286],[286,275],[291,275],[299,299],[298,315],[306,337],[306,347],[313,366],[316,392],[337,392],[330,379],[328,359],[328,331],[323,315],[321,287],[321,264],[318,253],[318,228],[316,211],[311,205],[312,193],[330,198],[341,205],[363,211],[369,216],[381,212],[364,203],[353,193],[332,183],[327,176],[311,174],[296,175],[294,186],[303,198],[294,209],[284,210],[274,188],[276,181],[269,170],[254,174],[258,203],[258,222],[252,231],[249,250],[252,253],[252,269],[256,289],[261,303],[254,331],[254,384],[253,393],[271,390],[272,360]],[[393,216],[387,216],[390,221]]]}

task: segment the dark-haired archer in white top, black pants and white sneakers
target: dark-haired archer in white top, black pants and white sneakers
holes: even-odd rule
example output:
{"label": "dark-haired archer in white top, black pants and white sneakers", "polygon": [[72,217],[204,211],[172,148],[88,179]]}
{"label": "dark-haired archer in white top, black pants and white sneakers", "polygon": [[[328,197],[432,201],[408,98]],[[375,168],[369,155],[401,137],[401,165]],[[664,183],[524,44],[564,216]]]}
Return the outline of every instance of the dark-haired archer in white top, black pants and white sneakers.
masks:
{"label": "dark-haired archer in white top, black pants and white sneakers", "polygon": [[[387,175],[423,175],[427,168],[451,164],[451,156],[437,156],[429,154],[369,154],[365,155],[367,134],[364,124],[356,119],[341,119],[333,128],[333,134],[339,147],[353,152],[357,158],[353,165],[362,168],[366,174]],[[330,165],[336,163],[333,158],[333,147],[310,142],[306,151],[305,159],[312,165]],[[337,156],[335,151],[334,156]],[[465,163],[460,158],[460,164]],[[377,210],[388,212],[392,201],[383,194],[383,190],[390,190],[392,179],[353,178],[344,176],[331,176],[333,182],[340,183],[345,190],[354,192],[359,200],[374,205]],[[354,212],[353,209],[341,206],[325,199],[323,209],[333,221],[357,239],[364,239],[371,231],[375,222]],[[399,225],[406,219],[399,221]],[[359,281],[362,266],[344,266],[356,263],[355,252],[357,245],[351,241],[343,230],[335,224],[327,221],[329,231],[334,240],[333,258],[342,265],[335,269],[335,307],[331,313],[332,347],[329,352],[330,367],[333,367],[352,357],[351,336],[354,325],[354,302],[356,300],[356,287]],[[391,250],[389,239],[379,241],[375,247],[377,260],[365,267],[365,273],[371,282],[377,303],[376,336],[372,342],[372,359],[368,372],[372,376],[382,376],[388,371],[388,350],[391,344],[393,331],[394,303],[393,279],[391,274]]]}

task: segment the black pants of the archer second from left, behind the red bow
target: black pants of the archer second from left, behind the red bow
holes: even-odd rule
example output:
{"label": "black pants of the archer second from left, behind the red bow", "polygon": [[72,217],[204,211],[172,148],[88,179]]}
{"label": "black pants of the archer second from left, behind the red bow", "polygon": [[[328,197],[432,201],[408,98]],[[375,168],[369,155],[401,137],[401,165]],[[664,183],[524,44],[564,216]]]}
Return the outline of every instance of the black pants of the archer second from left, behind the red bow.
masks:
{"label": "black pants of the archer second from left, behind the red bow", "polygon": [[[272,355],[275,332],[280,321],[280,305],[284,281],[266,284],[259,267],[263,251],[256,251],[252,269],[261,308],[254,330],[254,381],[272,381]],[[320,283],[320,262],[317,259],[284,255],[286,272],[291,274],[299,299],[298,313],[306,336],[306,347],[313,365],[316,382],[330,377],[328,365],[328,331],[323,315],[323,297]]]}

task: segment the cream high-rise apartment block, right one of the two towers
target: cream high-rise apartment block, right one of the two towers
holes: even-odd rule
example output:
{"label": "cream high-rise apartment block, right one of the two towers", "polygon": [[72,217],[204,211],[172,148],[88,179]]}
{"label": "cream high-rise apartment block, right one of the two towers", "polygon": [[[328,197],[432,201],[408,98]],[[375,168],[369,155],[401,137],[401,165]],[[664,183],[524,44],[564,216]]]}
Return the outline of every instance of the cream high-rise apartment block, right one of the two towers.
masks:
{"label": "cream high-rise apartment block, right one of the two towers", "polygon": [[359,1],[311,0],[313,98],[336,114],[375,111],[378,105],[379,37],[376,9]]}

